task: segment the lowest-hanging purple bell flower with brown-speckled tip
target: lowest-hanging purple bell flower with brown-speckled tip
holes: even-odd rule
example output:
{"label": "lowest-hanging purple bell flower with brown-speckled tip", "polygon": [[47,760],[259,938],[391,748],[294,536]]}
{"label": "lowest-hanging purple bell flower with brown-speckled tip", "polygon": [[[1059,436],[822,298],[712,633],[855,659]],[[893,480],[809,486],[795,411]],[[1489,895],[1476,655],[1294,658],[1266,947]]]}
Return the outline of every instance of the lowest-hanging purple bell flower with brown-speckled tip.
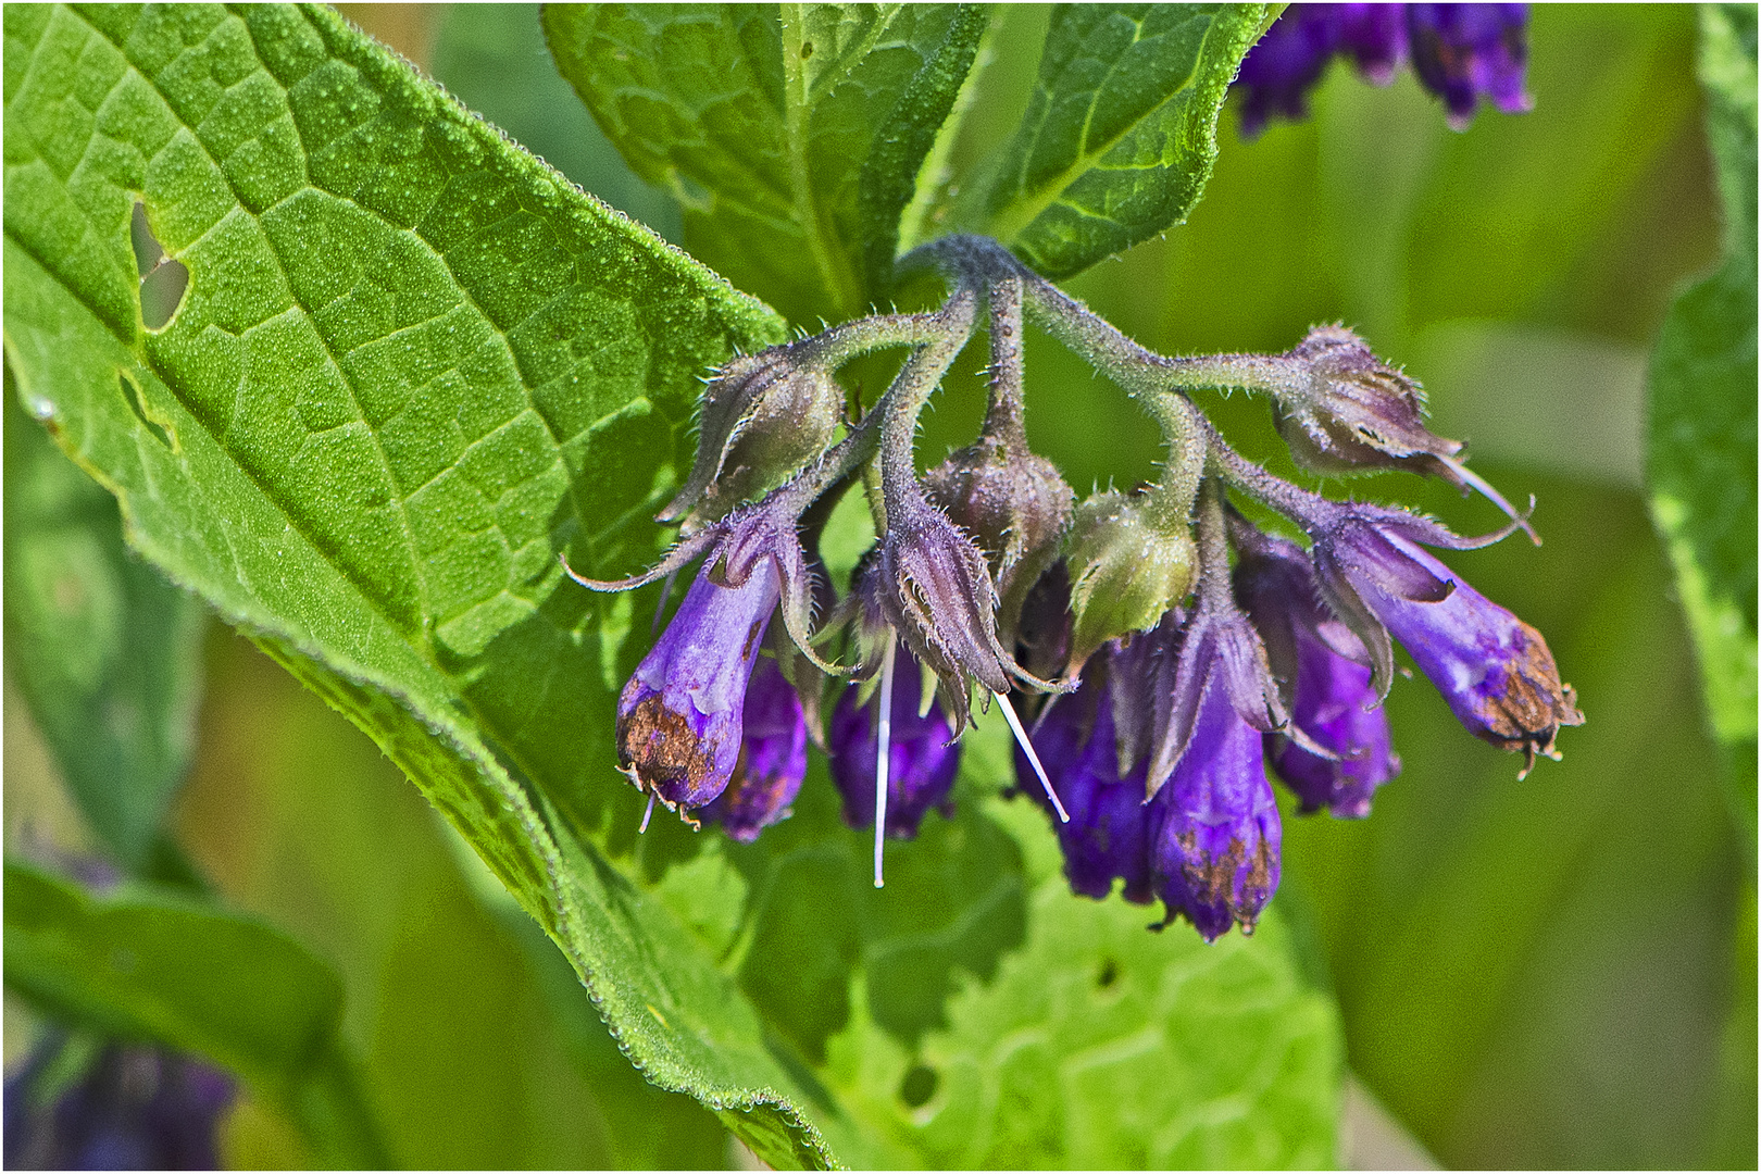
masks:
{"label": "lowest-hanging purple bell flower with brown-speckled tip", "polygon": [[1168,919],[1185,915],[1215,942],[1231,924],[1252,933],[1278,887],[1278,804],[1261,736],[1220,681],[1205,690],[1175,773],[1150,801],[1150,866]]}

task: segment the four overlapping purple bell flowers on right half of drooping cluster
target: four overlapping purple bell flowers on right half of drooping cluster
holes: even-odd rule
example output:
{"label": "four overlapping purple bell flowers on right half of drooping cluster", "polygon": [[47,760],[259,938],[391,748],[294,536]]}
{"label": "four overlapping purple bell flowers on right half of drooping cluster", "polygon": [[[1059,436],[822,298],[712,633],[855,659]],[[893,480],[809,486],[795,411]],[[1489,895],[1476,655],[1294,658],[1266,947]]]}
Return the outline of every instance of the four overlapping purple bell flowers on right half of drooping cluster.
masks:
{"label": "four overlapping purple bell flowers on right half of drooping cluster", "polygon": [[[1071,889],[1104,898],[1124,880],[1125,899],[1153,892],[1206,940],[1250,931],[1278,885],[1268,760],[1301,811],[1340,818],[1367,817],[1400,773],[1381,708],[1389,637],[1470,732],[1527,755],[1523,774],[1583,722],[1541,635],[1418,546],[1476,542],[1294,488],[1286,507],[1310,551],[1229,514],[1240,613],[1201,598],[1109,642],[1035,725],[1071,817],[1057,827]],[[1016,776],[1032,792],[1021,755]]]}

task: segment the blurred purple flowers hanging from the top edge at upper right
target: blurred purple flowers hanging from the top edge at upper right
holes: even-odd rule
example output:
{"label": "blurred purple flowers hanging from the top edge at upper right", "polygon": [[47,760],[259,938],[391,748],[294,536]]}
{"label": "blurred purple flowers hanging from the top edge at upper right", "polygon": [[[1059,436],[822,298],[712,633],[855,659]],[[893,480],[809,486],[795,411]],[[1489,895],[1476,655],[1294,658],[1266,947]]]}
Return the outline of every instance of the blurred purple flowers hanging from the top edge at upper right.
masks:
{"label": "blurred purple flowers hanging from the top edge at upper right", "polygon": [[1523,88],[1527,4],[1293,4],[1242,62],[1242,134],[1257,136],[1275,114],[1307,118],[1308,92],[1335,55],[1377,86],[1411,60],[1456,130],[1481,99],[1506,114],[1534,106]]}

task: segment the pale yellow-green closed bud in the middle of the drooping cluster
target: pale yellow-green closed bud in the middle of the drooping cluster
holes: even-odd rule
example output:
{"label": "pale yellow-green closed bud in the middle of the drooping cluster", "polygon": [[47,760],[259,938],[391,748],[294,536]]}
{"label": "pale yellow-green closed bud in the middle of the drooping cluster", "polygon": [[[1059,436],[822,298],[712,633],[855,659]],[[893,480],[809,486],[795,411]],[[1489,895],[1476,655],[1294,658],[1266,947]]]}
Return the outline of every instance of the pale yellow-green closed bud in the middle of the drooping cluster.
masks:
{"label": "pale yellow-green closed bud in the middle of the drooping cluster", "polygon": [[1108,491],[1078,505],[1069,546],[1071,671],[1106,641],[1153,628],[1192,588],[1190,530],[1155,525],[1141,495]]}

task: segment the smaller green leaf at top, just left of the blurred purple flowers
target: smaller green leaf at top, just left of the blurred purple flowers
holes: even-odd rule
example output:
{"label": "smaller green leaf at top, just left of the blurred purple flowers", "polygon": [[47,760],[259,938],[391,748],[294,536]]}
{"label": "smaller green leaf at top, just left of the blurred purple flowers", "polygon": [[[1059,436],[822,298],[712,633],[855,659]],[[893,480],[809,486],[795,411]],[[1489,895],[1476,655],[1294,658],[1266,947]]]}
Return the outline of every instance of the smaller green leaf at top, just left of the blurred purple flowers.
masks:
{"label": "smaller green leaf at top, just left of the blurred purple flowers", "polygon": [[965,215],[1051,278],[1185,220],[1261,4],[1072,4],[1046,33],[1020,130]]}

